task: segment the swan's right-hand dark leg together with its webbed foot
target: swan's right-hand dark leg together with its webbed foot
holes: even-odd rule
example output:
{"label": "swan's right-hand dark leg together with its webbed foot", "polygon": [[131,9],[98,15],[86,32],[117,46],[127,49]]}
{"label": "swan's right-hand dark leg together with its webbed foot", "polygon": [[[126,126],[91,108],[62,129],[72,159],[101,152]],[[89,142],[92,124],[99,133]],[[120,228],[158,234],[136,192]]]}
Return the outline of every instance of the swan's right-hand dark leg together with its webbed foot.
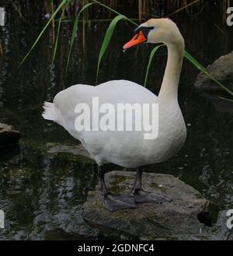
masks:
{"label": "swan's right-hand dark leg together with its webbed foot", "polygon": [[140,203],[156,203],[162,204],[163,202],[172,202],[172,199],[166,198],[163,195],[156,194],[154,192],[144,191],[141,186],[143,167],[137,168],[137,177],[132,189],[131,195],[134,195],[135,202]]}

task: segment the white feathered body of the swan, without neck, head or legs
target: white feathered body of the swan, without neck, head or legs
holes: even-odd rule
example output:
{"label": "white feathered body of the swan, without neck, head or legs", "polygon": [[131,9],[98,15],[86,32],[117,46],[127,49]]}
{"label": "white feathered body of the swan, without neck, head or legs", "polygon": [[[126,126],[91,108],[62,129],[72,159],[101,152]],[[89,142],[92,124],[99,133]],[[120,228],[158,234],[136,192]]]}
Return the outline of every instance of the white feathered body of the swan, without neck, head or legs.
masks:
{"label": "white feathered body of the swan, without neck, head or legs", "polygon": [[[75,139],[81,141],[99,165],[115,163],[123,167],[138,167],[158,163],[173,156],[183,146],[185,125],[179,108],[176,110],[176,102],[172,101],[169,113],[165,113],[162,106],[159,108],[159,136],[155,140],[144,140],[145,131],[77,132],[75,106],[77,103],[87,103],[92,109],[93,96],[99,97],[99,104],[113,105],[158,103],[158,97],[143,86],[125,80],[110,81],[99,86],[71,86],[55,96],[51,116],[54,117],[55,112],[59,118],[51,120],[61,124]],[[165,109],[168,107],[169,104],[166,104]]]}

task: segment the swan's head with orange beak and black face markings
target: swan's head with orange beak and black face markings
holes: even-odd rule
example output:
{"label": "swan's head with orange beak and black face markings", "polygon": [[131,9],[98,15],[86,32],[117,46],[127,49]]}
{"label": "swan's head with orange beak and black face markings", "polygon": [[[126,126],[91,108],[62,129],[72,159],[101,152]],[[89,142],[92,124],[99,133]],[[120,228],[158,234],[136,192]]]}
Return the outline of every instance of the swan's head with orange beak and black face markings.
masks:
{"label": "swan's head with orange beak and black face markings", "polygon": [[149,19],[138,26],[134,32],[136,35],[123,46],[123,50],[145,43],[184,45],[183,37],[176,23],[173,23],[171,19]]}

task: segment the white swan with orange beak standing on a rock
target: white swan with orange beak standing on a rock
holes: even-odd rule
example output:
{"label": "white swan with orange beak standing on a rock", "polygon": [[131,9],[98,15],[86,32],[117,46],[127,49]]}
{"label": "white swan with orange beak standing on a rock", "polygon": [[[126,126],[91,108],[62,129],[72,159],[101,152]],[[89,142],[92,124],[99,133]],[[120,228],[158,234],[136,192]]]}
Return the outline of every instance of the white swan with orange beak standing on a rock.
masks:
{"label": "white swan with orange beak standing on a rock", "polygon": [[[111,211],[134,208],[135,202],[171,202],[162,195],[142,190],[142,167],[168,160],[179,152],[186,140],[186,125],[177,99],[183,63],[183,37],[170,19],[150,19],[138,26],[135,33],[135,37],[124,45],[124,50],[144,43],[163,43],[168,47],[168,61],[158,96],[134,82],[116,80],[99,86],[71,86],[58,93],[54,103],[44,103],[43,106],[43,118],[63,126],[75,139],[82,142],[96,160],[103,204]],[[99,104],[111,103],[116,107],[117,103],[158,103],[158,138],[144,139],[143,129],[141,132],[78,132],[75,128],[75,119],[78,116],[75,106],[78,103],[86,103],[92,109],[93,97],[99,98]],[[95,118],[99,117],[95,115],[93,121],[99,121]],[[112,195],[107,191],[102,170],[104,163],[137,167],[137,177],[130,195]]]}

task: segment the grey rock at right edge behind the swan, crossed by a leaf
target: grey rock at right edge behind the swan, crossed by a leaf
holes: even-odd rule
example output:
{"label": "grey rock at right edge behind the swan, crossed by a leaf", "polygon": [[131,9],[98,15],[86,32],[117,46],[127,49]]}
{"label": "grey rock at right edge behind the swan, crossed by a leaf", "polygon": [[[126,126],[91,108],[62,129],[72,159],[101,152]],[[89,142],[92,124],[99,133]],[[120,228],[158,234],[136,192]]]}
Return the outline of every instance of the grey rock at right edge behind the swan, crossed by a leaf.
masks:
{"label": "grey rock at right edge behind the swan, crossed by a leaf", "polygon": [[[233,51],[231,53],[221,56],[212,65],[207,67],[207,72],[210,73],[217,81],[221,82],[228,89],[233,90]],[[197,75],[194,86],[197,89],[206,91],[224,90],[218,86],[207,75],[200,73]]]}

